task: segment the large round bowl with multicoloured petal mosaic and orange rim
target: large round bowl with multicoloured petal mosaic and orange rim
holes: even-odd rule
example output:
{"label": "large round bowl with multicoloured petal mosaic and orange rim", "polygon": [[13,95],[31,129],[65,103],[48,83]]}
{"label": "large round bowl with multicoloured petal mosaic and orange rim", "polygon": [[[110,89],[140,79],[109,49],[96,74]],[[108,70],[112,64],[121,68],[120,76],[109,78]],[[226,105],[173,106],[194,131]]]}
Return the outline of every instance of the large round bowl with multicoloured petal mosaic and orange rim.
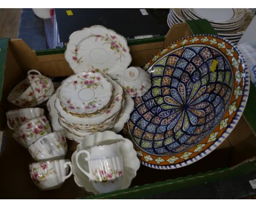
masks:
{"label": "large round bowl with multicoloured petal mosaic and orange rim", "polygon": [[178,40],[144,69],[152,88],[135,97],[128,127],[146,166],[173,169],[200,160],[223,142],[245,108],[248,69],[219,36]]}

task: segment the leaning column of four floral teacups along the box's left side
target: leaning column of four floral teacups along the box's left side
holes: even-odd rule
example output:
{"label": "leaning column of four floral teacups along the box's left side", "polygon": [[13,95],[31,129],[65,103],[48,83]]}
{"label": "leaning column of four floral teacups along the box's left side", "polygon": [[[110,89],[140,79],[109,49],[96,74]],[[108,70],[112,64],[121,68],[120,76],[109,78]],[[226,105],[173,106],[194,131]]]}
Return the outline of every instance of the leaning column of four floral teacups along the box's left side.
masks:
{"label": "leaning column of four floral teacups along the box's left side", "polygon": [[29,165],[34,184],[41,190],[55,189],[72,175],[65,160],[67,141],[62,132],[51,132],[42,108],[21,108],[7,112],[13,137],[37,161]]}

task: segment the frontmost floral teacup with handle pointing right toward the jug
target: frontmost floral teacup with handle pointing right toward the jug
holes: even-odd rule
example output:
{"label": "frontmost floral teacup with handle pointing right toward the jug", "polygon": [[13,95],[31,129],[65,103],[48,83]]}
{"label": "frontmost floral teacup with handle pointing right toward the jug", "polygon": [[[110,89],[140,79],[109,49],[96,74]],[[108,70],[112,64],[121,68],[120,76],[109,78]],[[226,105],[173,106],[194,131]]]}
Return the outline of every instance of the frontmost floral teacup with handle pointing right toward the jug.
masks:
{"label": "frontmost floral teacup with handle pointing right toward the jug", "polygon": [[70,160],[40,161],[29,164],[31,179],[40,190],[60,188],[72,172]]}

